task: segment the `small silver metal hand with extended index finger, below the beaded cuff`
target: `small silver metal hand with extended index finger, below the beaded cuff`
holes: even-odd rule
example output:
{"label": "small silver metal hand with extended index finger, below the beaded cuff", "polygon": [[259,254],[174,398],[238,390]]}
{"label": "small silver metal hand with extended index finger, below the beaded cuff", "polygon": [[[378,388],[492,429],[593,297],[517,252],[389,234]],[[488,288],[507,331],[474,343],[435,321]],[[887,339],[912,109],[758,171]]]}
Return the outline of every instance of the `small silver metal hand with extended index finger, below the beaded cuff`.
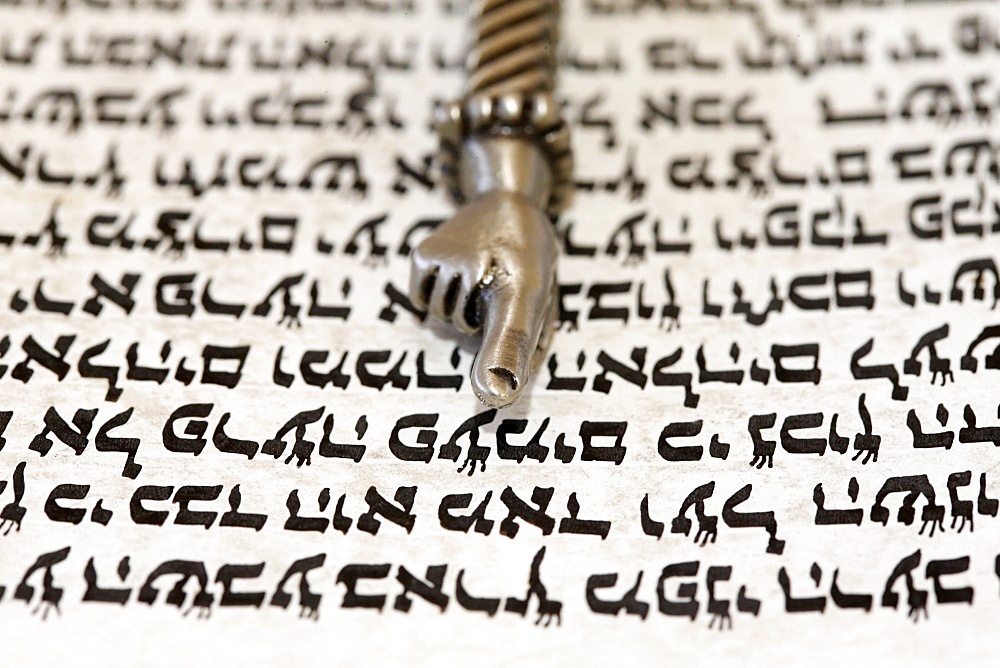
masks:
{"label": "small silver metal hand with extended index finger, below the beaded cuff", "polygon": [[538,206],[503,190],[468,202],[413,253],[413,301],[461,332],[482,331],[472,388],[487,406],[517,400],[548,343],[558,253]]}

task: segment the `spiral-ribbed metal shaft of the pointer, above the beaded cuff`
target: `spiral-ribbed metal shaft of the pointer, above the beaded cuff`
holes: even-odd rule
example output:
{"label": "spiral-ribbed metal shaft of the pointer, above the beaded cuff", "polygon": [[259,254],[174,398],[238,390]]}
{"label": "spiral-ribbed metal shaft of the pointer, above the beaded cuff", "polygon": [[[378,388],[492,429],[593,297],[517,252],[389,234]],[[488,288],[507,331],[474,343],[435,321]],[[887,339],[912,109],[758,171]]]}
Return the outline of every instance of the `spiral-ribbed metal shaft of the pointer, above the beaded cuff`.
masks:
{"label": "spiral-ribbed metal shaft of the pointer, above the beaded cuff", "polygon": [[558,0],[478,0],[469,53],[469,92],[551,92]]}

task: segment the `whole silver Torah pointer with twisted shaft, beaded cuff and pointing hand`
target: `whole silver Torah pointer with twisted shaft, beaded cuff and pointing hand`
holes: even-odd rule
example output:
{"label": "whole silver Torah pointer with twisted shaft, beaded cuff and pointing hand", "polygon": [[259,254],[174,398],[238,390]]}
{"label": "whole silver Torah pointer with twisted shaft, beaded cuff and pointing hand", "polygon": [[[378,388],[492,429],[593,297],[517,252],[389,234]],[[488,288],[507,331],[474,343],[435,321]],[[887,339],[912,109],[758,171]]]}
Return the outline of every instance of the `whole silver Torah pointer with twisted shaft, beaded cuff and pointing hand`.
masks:
{"label": "whole silver Torah pointer with twisted shaft, beaded cuff and pointing hand", "polygon": [[559,242],[572,193],[569,128],[552,96],[558,0],[480,0],[468,90],[436,109],[441,172],[458,212],[411,256],[410,297],[482,333],[472,388],[487,406],[521,396],[555,323]]}

